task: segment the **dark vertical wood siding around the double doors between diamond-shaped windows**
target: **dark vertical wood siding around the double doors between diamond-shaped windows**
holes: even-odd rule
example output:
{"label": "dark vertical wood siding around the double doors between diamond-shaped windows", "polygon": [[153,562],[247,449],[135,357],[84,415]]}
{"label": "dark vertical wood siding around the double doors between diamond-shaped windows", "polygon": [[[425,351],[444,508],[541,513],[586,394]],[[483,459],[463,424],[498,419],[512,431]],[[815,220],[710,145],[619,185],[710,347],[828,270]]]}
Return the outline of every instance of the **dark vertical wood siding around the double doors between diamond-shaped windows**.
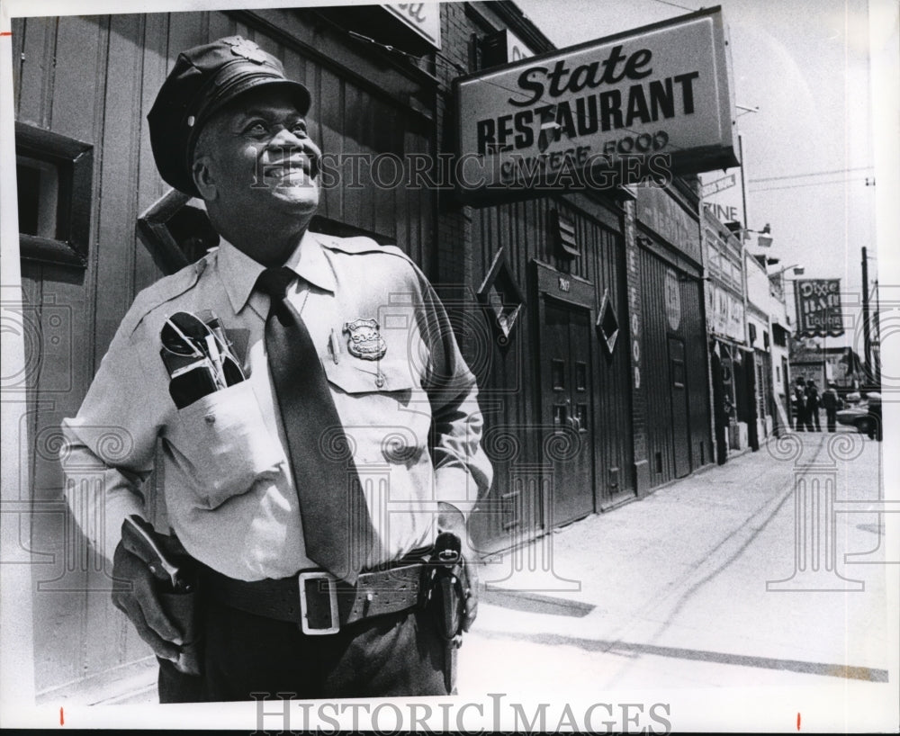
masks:
{"label": "dark vertical wood siding around the double doors between diamond-shaped windows", "polygon": [[[572,218],[581,255],[572,260],[557,256],[551,236],[551,211]],[[601,224],[603,220],[604,223]],[[478,364],[485,413],[485,450],[494,462],[495,481],[491,494],[476,516],[475,535],[486,548],[509,546],[545,529],[544,486],[541,483],[540,396],[537,374],[539,325],[536,324],[538,295],[530,290],[528,263],[545,264],[589,281],[595,289],[591,305],[596,320],[604,292],[620,326],[613,355],[593,332],[597,345],[591,351],[594,372],[595,466],[598,503],[612,493],[608,489],[610,469],[619,469],[618,491],[634,491],[631,478],[632,427],[630,369],[628,364],[628,318],[625,256],[617,228],[617,215],[583,196],[548,197],[473,210],[474,283],[481,283],[500,248],[519,288],[525,293],[523,309],[509,341],[500,347],[496,335],[485,328],[490,344]]]}

